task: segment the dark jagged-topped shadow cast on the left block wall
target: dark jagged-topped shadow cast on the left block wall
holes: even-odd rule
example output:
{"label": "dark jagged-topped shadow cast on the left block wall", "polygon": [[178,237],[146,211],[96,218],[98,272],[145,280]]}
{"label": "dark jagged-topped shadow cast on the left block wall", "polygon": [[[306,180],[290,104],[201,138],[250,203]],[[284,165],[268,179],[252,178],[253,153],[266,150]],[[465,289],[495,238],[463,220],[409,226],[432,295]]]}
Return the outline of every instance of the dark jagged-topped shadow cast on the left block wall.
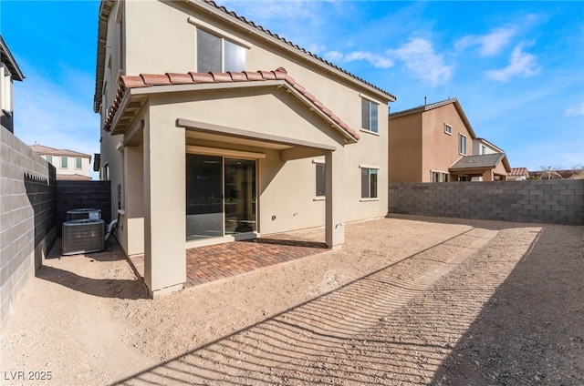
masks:
{"label": "dark jagged-topped shadow cast on the left block wall", "polygon": [[57,239],[57,173],[55,167],[48,164],[48,178],[25,173],[23,179],[26,197],[33,208],[36,270]]}

